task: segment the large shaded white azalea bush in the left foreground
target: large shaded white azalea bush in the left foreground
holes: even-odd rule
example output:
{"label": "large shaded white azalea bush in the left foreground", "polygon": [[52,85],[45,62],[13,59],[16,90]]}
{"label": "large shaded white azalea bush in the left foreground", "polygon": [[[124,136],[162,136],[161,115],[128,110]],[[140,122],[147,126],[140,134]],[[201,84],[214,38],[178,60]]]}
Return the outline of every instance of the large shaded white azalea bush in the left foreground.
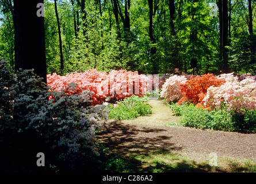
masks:
{"label": "large shaded white azalea bush in the left foreground", "polygon": [[[0,78],[0,132],[33,129],[63,161],[98,154],[95,131],[104,125],[109,112],[105,105],[90,106],[90,91],[81,95],[49,91],[32,70],[14,75],[4,60],[0,61]],[[64,90],[75,86],[71,83]]]}

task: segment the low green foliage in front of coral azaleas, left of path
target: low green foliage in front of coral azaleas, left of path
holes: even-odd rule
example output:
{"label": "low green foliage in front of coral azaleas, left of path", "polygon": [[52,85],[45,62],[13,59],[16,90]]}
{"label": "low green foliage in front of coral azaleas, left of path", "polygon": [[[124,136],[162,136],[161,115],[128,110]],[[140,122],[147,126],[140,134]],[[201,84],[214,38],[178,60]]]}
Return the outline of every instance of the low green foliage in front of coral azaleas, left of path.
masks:
{"label": "low green foliage in front of coral azaleas, left of path", "polygon": [[125,98],[124,101],[117,102],[117,105],[110,105],[109,118],[115,120],[128,120],[138,116],[151,114],[151,107],[145,104],[146,101],[146,97],[139,98],[135,95]]}

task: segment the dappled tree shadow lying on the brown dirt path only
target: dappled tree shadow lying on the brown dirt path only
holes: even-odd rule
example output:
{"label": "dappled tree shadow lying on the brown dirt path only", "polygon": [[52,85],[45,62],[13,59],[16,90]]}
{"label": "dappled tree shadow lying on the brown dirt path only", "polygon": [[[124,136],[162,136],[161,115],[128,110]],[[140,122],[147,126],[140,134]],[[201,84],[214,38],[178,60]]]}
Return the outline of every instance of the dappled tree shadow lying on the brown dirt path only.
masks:
{"label": "dappled tree shadow lying on the brown dirt path only", "polygon": [[[120,121],[113,121],[107,129],[97,136],[102,144],[113,150],[118,150],[121,155],[132,155],[134,153],[146,155],[148,152],[155,154],[158,149],[165,153],[180,150],[181,147],[174,146],[173,143],[168,141],[171,136],[156,136],[157,133],[163,131],[166,130],[148,127],[138,128]],[[144,136],[147,133],[152,133],[153,136]]]}

